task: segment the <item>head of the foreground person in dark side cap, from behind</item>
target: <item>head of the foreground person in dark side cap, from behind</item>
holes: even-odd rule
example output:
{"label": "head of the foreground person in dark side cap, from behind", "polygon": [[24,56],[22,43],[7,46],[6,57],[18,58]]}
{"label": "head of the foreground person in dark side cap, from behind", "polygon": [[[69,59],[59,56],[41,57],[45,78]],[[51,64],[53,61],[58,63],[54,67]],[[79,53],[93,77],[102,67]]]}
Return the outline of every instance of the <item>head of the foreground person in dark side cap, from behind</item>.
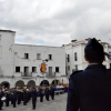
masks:
{"label": "head of the foreground person in dark side cap, from behind", "polygon": [[97,39],[90,39],[84,48],[84,59],[89,63],[102,63],[104,60],[103,47]]}

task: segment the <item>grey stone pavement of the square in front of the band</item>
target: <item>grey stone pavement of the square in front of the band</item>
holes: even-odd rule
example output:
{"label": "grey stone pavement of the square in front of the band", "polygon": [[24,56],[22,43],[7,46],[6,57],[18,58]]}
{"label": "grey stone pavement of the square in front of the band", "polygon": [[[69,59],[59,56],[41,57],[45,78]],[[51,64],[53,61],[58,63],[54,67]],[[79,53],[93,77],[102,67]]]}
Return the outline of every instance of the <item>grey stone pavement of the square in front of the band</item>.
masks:
{"label": "grey stone pavement of the square in front of the band", "polygon": [[[37,101],[37,109],[34,111],[65,111],[67,107],[67,93],[56,95],[54,100],[40,102],[39,98]],[[33,111],[31,101],[28,103],[28,105],[23,105],[22,103],[20,105],[17,105],[17,108],[10,107],[3,107],[2,111]]]}

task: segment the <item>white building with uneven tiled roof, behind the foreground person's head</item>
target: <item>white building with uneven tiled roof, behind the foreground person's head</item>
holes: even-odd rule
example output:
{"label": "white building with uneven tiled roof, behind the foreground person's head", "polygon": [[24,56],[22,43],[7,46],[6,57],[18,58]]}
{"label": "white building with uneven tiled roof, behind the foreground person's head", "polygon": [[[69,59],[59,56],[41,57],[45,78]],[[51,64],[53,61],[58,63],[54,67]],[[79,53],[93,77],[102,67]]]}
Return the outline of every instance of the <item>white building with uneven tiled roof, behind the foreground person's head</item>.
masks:
{"label": "white building with uneven tiled roof, behind the foreground person's head", "polygon": [[[68,75],[70,75],[75,70],[84,70],[88,65],[88,63],[84,60],[84,47],[89,39],[77,41],[72,40],[69,44],[63,44],[62,47],[65,50],[65,70]],[[111,52],[111,46],[109,43],[102,42],[99,40],[99,42],[103,46],[105,52]],[[108,60],[105,57],[105,60],[103,64],[109,69],[111,68],[111,61]]]}

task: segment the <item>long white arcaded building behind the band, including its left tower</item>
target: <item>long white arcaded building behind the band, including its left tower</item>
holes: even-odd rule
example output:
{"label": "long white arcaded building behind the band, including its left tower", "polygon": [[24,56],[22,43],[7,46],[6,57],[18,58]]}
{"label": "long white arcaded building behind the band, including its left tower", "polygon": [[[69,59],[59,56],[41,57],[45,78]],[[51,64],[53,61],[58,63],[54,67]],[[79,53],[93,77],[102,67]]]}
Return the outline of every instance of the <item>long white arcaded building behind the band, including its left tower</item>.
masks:
{"label": "long white arcaded building behind the band, including its left tower", "polygon": [[[65,51],[62,47],[14,44],[16,32],[0,30],[0,84],[40,85],[41,83],[68,83]],[[47,72],[40,65],[48,59]],[[44,81],[44,82],[43,82]]]}

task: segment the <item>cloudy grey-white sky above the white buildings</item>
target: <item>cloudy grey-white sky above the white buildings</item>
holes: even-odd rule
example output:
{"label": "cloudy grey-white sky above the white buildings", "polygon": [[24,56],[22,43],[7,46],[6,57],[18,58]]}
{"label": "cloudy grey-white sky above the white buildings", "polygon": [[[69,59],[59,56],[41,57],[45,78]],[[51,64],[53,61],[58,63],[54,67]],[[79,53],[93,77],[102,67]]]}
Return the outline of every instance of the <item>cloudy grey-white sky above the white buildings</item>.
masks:
{"label": "cloudy grey-white sky above the white buildings", "polygon": [[16,43],[23,44],[110,42],[111,0],[0,0],[0,29],[16,31]]}

